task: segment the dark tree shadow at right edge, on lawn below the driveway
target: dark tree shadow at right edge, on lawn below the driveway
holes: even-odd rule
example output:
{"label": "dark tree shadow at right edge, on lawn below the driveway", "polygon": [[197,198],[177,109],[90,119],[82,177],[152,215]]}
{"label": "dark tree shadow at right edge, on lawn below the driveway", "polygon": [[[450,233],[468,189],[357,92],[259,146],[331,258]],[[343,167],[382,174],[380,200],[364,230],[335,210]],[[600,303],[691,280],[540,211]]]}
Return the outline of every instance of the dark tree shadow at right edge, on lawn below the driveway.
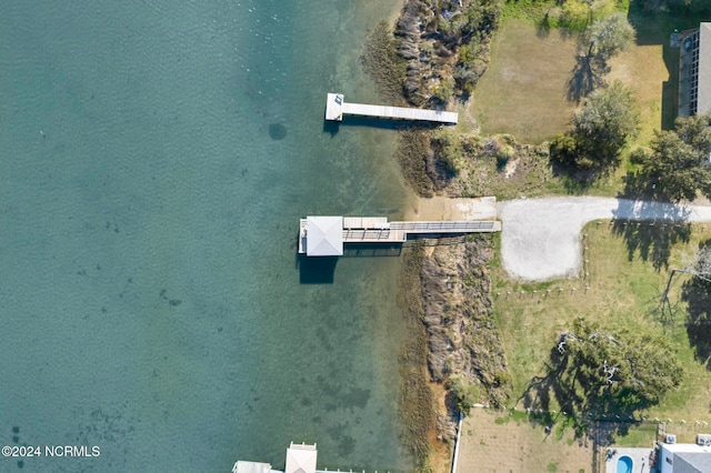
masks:
{"label": "dark tree shadow at right edge, on lawn below the driveway", "polygon": [[[699,243],[699,249],[711,245],[711,239]],[[711,370],[711,282],[700,278],[684,281],[681,299],[687,302],[687,334],[694,355],[707,370]]]}

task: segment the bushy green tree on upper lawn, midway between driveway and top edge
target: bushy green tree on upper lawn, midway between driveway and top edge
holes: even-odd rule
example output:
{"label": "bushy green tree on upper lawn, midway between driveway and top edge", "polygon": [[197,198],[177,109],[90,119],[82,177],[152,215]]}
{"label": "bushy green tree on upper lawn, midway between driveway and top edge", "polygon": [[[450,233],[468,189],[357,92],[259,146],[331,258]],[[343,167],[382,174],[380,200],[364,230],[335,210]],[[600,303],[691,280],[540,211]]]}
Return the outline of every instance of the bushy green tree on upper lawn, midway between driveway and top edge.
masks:
{"label": "bushy green tree on upper lawn, midway between driveway and top edge", "polygon": [[639,114],[630,89],[615,81],[594,90],[573,112],[573,128],[551,144],[551,158],[560,164],[595,172],[619,163],[620,151],[634,137]]}

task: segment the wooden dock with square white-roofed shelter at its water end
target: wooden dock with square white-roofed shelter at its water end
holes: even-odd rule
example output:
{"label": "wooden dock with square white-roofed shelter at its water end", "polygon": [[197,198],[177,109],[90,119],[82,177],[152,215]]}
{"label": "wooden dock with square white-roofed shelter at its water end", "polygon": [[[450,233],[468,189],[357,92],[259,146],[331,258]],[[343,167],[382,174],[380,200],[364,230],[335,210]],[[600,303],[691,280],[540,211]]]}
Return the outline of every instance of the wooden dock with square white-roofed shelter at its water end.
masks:
{"label": "wooden dock with square white-roofed shelter at its water end", "polygon": [[501,231],[498,220],[389,222],[385,217],[307,217],[300,220],[299,253],[341,256],[344,243],[404,243],[411,235]]}

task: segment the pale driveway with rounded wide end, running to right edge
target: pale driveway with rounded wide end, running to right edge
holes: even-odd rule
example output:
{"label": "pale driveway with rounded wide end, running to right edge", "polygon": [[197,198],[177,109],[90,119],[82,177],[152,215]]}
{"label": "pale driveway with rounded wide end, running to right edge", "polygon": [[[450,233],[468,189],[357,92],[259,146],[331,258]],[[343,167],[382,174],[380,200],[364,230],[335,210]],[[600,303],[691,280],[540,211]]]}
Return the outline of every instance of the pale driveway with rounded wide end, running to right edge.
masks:
{"label": "pale driveway with rounded wide end, running to right edge", "polygon": [[543,281],[578,274],[580,231],[598,219],[711,222],[711,207],[612,198],[521,199],[498,203],[501,258],[509,274]]}

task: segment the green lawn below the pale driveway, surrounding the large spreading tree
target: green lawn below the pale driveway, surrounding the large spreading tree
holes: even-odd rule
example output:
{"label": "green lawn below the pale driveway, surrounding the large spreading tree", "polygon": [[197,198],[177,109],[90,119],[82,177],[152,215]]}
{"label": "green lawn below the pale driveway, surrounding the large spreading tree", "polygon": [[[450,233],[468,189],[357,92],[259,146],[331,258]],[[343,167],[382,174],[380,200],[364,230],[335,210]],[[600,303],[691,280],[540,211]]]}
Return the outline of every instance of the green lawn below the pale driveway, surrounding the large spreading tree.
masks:
{"label": "green lawn below the pale driveway, surrounding the large spreading tree", "polygon": [[[662,315],[658,310],[669,269],[683,266],[682,262],[698,242],[711,238],[711,227],[698,224],[688,233],[684,228],[659,225],[650,230],[645,225],[620,227],[623,234],[614,231],[609,222],[587,225],[583,230],[587,263],[580,279],[523,284],[510,280],[501,268],[492,272],[493,291],[499,294],[494,300],[494,316],[505,345],[514,395],[520,396],[512,400],[512,406],[518,403],[517,406],[523,409],[522,396],[529,383],[544,373],[544,364],[560,333],[581,315],[610,328],[634,331],[644,326],[667,336],[684,366],[684,379],[678,390],[644,415],[672,419],[679,426],[684,425],[681,420],[687,421],[685,425],[711,422],[711,373],[704,360],[694,358],[684,324],[684,304],[680,300],[685,276],[674,278],[670,292],[672,313]],[[667,244],[674,239],[674,243]]]}

